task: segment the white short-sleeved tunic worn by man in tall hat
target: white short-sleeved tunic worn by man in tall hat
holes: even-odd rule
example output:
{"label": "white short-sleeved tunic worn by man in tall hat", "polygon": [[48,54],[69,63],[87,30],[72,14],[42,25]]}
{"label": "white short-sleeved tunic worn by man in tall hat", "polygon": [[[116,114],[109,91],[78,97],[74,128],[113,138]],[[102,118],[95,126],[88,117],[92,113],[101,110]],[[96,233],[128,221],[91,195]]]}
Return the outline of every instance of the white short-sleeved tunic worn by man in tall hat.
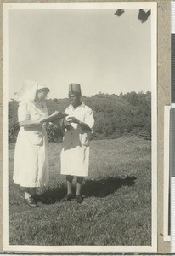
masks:
{"label": "white short-sleeved tunic worn by man in tall hat", "polygon": [[[65,113],[87,124],[93,129],[93,111],[83,102],[77,108],[70,105]],[[83,131],[80,125],[71,123],[72,129],[65,130],[63,148],[61,151],[61,174],[86,177],[89,166],[89,136],[90,132]]]}

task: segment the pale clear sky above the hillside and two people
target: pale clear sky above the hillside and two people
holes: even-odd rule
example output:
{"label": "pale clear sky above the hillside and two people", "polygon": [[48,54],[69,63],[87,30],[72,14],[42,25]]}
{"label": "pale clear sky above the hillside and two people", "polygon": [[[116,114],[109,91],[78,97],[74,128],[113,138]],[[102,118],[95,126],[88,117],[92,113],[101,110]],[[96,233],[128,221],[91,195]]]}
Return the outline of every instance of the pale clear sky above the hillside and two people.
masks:
{"label": "pale clear sky above the hillside and two people", "polygon": [[9,97],[25,79],[65,98],[151,90],[151,22],[138,9],[12,9],[9,11]]}

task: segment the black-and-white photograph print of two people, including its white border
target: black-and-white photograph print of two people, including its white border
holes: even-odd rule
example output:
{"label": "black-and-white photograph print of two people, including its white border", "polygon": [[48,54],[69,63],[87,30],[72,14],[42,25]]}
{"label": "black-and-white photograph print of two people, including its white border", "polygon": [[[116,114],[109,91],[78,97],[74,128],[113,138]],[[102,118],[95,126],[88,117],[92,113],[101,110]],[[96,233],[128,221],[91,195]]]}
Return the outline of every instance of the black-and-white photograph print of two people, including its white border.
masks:
{"label": "black-and-white photograph print of two people, including its white border", "polygon": [[157,250],[156,3],[3,3],[3,249]]}

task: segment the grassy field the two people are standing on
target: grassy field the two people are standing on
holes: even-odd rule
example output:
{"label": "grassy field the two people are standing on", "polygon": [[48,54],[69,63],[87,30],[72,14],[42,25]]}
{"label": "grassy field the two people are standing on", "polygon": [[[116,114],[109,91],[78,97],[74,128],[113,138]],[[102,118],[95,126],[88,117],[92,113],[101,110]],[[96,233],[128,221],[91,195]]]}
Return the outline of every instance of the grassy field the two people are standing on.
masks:
{"label": "grassy field the two people are standing on", "polygon": [[10,244],[150,245],[150,141],[92,141],[81,205],[61,201],[66,189],[65,177],[59,174],[60,150],[60,144],[49,144],[50,183],[33,209],[13,184],[14,144],[10,145]]}

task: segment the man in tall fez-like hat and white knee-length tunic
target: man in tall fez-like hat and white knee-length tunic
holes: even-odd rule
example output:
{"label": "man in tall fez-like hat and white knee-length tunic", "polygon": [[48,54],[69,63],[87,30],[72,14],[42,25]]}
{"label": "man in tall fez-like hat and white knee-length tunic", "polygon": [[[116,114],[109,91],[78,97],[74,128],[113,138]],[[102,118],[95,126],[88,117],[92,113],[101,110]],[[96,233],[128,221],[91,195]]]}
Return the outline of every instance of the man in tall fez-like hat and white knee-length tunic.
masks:
{"label": "man in tall fez-like hat and white knee-length tunic", "polygon": [[70,84],[69,98],[71,105],[65,109],[68,116],[63,128],[65,136],[61,151],[61,174],[66,175],[66,201],[73,198],[72,180],[76,176],[76,201],[82,202],[82,181],[88,176],[89,135],[93,130],[93,111],[81,102],[80,84]]}

